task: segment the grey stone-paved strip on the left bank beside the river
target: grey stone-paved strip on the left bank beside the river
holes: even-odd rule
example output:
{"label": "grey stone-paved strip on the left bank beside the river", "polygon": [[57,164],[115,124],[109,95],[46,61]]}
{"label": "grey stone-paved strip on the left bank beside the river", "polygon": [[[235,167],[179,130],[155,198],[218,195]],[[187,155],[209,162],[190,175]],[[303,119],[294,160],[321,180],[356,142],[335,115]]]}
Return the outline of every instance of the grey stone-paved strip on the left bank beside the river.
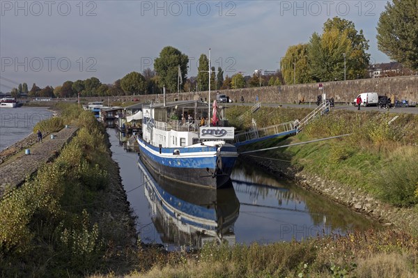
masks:
{"label": "grey stone-paved strip on the left bank beside the river", "polygon": [[53,133],[54,139],[50,139],[50,135],[31,146],[30,155],[24,152],[17,159],[10,163],[0,165],[0,198],[3,196],[6,185],[12,187],[20,186],[24,183],[26,175],[32,175],[38,170],[42,164],[51,161],[56,157],[57,152],[61,151],[65,143],[70,141],[77,132],[78,128],[63,128],[59,132]]}

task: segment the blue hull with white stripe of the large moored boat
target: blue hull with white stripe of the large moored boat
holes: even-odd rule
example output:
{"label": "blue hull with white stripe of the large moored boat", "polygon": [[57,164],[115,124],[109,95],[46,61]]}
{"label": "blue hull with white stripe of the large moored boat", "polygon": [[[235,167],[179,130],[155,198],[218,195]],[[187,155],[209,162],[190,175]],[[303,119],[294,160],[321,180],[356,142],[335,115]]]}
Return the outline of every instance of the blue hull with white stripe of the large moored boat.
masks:
{"label": "blue hull with white stripe of the large moored boat", "polygon": [[141,139],[138,142],[141,161],[153,176],[197,187],[217,189],[226,185],[237,158],[235,147],[220,151],[215,146],[157,148]]}

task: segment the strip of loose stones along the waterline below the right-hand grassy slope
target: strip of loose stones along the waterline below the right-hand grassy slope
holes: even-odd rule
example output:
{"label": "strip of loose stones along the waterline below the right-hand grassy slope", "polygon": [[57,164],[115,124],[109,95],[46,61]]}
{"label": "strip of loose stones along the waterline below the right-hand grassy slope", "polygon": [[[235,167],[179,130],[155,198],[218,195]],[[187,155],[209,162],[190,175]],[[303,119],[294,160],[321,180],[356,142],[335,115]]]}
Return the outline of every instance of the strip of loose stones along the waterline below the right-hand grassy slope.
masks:
{"label": "strip of loose stones along the waterline below the right-hand grassy slope", "polygon": [[358,213],[379,220],[384,225],[394,224],[399,228],[409,227],[412,231],[418,226],[418,215],[415,208],[395,208],[382,203],[366,192],[354,190],[347,185],[327,180],[318,175],[297,171],[288,162],[248,155],[245,156],[245,160],[258,164],[274,175],[291,178],[305,189],[327,196],[327,198]]}

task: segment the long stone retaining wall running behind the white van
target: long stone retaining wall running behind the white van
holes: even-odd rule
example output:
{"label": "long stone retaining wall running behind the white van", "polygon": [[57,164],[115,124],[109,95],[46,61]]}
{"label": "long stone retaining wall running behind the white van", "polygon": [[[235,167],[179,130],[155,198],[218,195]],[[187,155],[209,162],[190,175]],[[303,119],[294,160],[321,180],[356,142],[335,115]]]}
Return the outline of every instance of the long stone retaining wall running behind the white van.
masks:
{"label": "long stone retaining wall running behind the white van", "polygon": [[[312,84],[296,84],[284,86],[270,86],[270,87],[255,87],[255,88],[240,88],[231,90],[222,90],[223,93],[229,96],[233,102],[240,102],[241,96],[244,97],[245,102],[255,102],[256,97],[264,103],[293,103],[298,102],[304,98],[305,102],[316,102],[316,96],[326,93],[327,98],[334,98],[335,102],[353,102],[354,98],[359,93],[376,92],[379,95],[392,96],[396,95],[398,100],[408,100],[410,102],[418,102],[418,76],[407,77],[386,77],[373,79],[356,79],[338,82],[323,82],[323,90],[318,89],[318,83]],[[213,100],[216,91],[211,91],[211,99]],[[127,100],[137,99],[139,102],[162,102],[163,95],[130,95],[126,97]],[[167,93],[167,102],[174,100],[199,100],[208,98],[208,92],[190,92],[190,93]],[[101,97],[90,98],[93,100],[101,100]],[[90,100],[89,100],[90,101]]]}

